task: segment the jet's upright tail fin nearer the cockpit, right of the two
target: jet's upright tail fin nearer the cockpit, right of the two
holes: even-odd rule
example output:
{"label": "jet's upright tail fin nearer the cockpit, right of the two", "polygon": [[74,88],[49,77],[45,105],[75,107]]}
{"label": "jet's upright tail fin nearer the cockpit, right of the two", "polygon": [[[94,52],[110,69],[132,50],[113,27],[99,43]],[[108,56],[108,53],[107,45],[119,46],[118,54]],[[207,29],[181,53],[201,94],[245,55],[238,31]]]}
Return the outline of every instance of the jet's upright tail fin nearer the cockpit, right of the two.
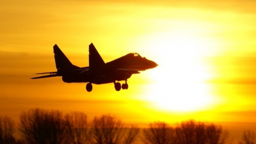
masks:
{"label": "jet's upright tail fin nearer the cockpit, right of the two", "polygon": [[105,62],[93,44],[89,45],[89,67],[90,70],[100,70]]}

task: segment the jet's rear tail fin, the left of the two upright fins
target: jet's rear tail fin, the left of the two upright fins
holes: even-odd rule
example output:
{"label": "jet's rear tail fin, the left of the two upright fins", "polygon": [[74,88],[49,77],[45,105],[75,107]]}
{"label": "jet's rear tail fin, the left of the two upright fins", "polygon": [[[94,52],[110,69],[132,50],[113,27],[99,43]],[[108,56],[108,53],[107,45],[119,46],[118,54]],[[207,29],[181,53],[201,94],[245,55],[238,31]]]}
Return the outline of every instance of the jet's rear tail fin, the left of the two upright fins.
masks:
{"label": "jet's rear tail fin, the left of the two upright fins", "polygon": [[67,71],[74,70],[75,68],[79,68],[76,65],[72,65],[72,63],[68,60],[67,56],[60,50],[58,45],[53,46],[54,59],[57,68],[57,72],[59,74],[63,74]]}

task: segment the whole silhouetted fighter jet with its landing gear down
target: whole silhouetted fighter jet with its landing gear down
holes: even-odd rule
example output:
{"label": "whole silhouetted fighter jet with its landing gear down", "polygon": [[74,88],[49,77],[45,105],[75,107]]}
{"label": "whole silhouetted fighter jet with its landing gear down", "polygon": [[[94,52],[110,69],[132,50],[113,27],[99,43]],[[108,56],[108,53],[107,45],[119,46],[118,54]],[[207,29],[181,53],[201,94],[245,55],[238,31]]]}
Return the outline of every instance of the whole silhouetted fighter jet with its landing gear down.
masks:
{"label": "whole silhouetted fighter jet with its landing gear down", "polygon": [[[65,83],[87,83],[88,92],[92,91],[92,84],[114,83],[115,90],[120,91],[121,88],[128,89],[127,79],[132,74],[140,74],[139,71],[157,67],[157,63],[142,58],[138,53],[129,53],[105,63],[93,44],[89,45],[89,67],[73,65],[56,44],[53,46],[53,52],[57,71],[38,73],[49,75],[31,79],[62,76]],[[122,86],[118,81],[124,81]]]}

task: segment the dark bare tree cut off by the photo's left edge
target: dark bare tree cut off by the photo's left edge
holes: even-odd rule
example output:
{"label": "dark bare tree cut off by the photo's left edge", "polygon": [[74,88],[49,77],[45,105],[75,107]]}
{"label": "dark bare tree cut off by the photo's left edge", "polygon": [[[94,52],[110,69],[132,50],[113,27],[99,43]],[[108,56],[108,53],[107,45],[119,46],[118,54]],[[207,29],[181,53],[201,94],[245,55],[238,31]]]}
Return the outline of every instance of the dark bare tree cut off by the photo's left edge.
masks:
{"label": "dark bare tree cut off by the photo's left edge", "polygon": [[8,116],[0,116],[0,143],[15,143],[14,122]]}

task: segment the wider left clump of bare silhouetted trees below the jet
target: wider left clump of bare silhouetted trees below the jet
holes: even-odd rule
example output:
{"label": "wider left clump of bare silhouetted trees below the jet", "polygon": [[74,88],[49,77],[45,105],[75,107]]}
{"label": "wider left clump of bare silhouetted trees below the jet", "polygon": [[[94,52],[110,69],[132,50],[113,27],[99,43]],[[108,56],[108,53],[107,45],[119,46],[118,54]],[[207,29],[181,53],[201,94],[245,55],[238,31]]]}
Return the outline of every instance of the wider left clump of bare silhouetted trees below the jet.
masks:
{"label": "wider left clump of bare silhouetted trees below the jet", "polygon": [[31,109],[20,115],[20,132],[28,144],[132,144],[139,129],[124,123],[116,116],[95,117],[88,126],[84,113],[72,112],[63,115],[60,111]]}

